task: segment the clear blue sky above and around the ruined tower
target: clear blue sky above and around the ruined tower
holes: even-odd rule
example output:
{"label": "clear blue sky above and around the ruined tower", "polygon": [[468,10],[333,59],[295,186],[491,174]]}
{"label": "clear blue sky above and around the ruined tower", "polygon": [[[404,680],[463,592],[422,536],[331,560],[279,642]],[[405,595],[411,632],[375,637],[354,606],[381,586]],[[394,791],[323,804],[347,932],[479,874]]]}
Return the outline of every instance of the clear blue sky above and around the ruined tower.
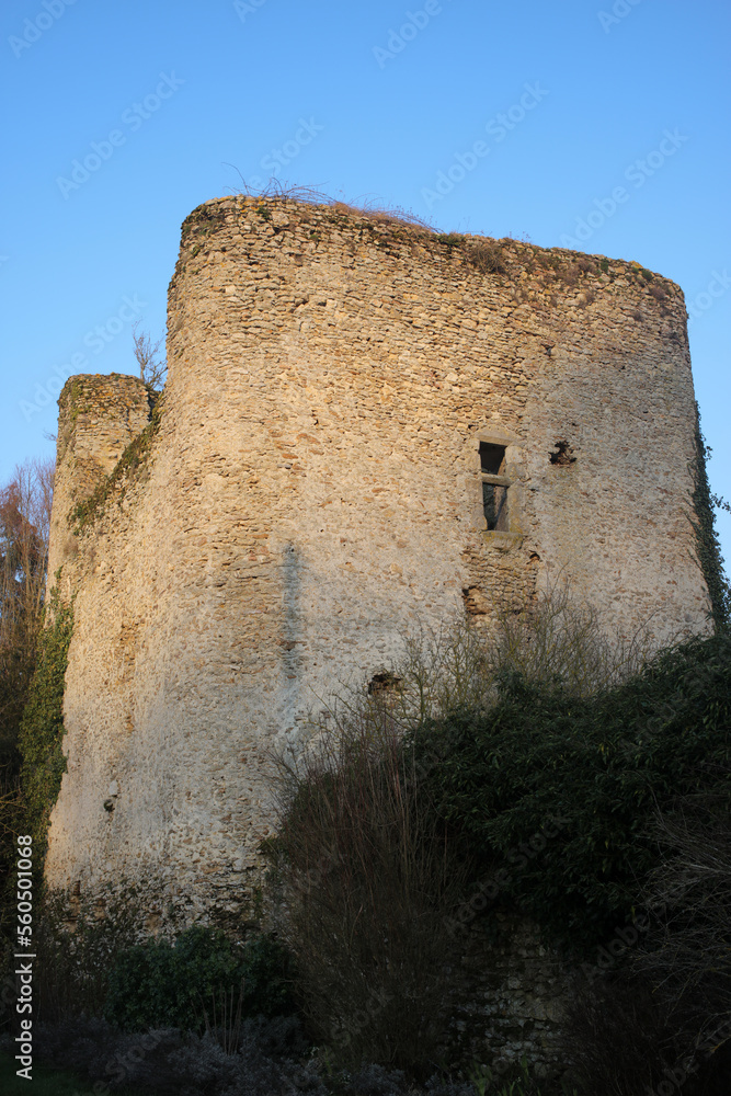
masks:
{"label": "clear blue sky above and around the ruined tower", "polygon": [[191,209],[274,174],[679,283],[731,495],[730,26],[722,0],[5,0],[0,480],[52,452],[67,376],[164,334]]}

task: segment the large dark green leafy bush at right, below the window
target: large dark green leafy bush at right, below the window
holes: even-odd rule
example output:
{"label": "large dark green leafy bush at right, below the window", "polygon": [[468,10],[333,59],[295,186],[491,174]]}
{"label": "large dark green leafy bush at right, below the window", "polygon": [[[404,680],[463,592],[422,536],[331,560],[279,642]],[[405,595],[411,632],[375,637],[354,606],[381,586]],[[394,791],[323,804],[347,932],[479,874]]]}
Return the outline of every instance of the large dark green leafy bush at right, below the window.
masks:
{"label": "large dark green leafy bush at right, below the window", "polygon": [[[640,912],[660,855],[655,810],[699,788],[731,803],[730,730],[720,632],[593,696],[505,672],[492,707],[426,722],[409,744],[482,877],[504,869],[501,900],[586,950]],[[556,819],[545,847],[526,846]]]}

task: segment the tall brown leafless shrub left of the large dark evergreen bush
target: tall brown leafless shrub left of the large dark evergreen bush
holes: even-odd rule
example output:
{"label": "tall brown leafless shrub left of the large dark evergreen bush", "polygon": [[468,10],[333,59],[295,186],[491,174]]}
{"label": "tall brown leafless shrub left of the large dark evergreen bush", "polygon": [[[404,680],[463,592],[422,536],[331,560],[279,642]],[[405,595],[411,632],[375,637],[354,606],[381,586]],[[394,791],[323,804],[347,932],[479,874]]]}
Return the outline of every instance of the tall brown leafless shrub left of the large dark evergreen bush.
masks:
{"label": "tall brown leafless shrub left of the large dark evergreen bush", "polygon": [[281,767],[279,932],[301,1003],[339,1060],[434,1061],[459,943],[446,918],[466,882],[388,704],[373,696]]}

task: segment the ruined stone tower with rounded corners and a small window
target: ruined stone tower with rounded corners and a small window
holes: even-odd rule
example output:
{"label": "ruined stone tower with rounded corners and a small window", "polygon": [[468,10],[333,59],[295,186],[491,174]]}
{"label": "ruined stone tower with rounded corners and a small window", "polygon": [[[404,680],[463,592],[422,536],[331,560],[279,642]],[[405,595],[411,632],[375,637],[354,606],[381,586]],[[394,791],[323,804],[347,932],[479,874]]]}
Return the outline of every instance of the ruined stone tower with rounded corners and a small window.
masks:
{"label": "ruined stone tower with rounded corners and a small window", "polygon": [[707,627],[677,286],[344,207],[207,202],[169,380],[72,377],[52,582],[75,598],[54,886],[240,893],[266,751],[404,631],[567,573],[630,633]]}

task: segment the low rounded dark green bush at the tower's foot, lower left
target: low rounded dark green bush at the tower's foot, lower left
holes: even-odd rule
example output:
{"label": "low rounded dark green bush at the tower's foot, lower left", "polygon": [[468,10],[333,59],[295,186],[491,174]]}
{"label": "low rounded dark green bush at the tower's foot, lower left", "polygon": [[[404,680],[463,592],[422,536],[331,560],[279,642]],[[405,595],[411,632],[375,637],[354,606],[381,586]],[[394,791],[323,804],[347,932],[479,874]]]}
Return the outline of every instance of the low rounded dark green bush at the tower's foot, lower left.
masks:
{"label": "low rounded dark green bush at the tower's foot, lower left", "polygon": [[150,940],[117,956],[106,1016],[130,1031],[198,1030],[212,995],[240,989],[243,1017],[294,1012],[284,949],[271,936],[239,945],[220,929],[194,926],[172,944]]}

